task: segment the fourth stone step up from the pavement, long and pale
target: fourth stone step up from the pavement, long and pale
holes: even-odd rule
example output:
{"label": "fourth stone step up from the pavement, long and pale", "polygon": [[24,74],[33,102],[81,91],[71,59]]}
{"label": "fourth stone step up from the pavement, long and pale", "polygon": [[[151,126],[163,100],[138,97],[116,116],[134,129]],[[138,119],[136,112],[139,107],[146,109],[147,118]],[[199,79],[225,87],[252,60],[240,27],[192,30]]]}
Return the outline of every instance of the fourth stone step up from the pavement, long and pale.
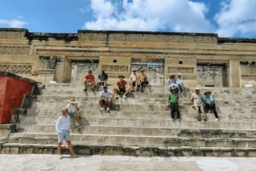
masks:
{"label": "fourth stone step up from the pavement, long and pale", "polygon": [[[27,118],[27,117],[26,117]],[[34,124],[55,124],[55,119],[51,117],[48,119],[41,119],[36,117],[20,125],[34,125]],[[74,122],[74,121],[73,121]],[[151,118],[109,118],[109,117],[82,117],[80,125],[91,126],[100,125],[107,127],[161,127],[161,128],[216,128],[216,129],[255,129],[255,122],[231,122],[231,121],[215,121],[213,117],[209,117],[207,122],[198,122],[195,120],[188,121],[172,121],[171,119],[154,119]]]}

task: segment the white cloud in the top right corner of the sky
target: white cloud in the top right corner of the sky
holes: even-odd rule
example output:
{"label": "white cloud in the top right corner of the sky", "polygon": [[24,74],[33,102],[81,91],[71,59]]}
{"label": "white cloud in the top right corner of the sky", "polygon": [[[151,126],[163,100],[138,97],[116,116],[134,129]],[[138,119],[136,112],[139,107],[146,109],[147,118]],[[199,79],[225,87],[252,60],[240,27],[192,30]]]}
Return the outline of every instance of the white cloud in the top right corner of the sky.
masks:
{"label": "white cloud in the top right corner of the sky", "polygon": [[219,37],[245,37],[256,33],[256,1],[230,0],[215,15]]}

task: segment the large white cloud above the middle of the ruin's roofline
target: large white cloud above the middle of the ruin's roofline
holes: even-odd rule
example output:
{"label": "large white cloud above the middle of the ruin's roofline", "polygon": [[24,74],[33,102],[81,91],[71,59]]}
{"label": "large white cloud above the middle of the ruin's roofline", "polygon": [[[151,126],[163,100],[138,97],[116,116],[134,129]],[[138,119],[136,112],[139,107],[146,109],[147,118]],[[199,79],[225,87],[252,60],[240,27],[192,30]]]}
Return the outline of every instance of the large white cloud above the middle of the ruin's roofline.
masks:
{"label": "large white cloud above the middle of the ruin's roofline", "polygon": [[211,31],[206,5],[190,0],[91,0],[90,6],[96,20],[85,22],[84,29]]}

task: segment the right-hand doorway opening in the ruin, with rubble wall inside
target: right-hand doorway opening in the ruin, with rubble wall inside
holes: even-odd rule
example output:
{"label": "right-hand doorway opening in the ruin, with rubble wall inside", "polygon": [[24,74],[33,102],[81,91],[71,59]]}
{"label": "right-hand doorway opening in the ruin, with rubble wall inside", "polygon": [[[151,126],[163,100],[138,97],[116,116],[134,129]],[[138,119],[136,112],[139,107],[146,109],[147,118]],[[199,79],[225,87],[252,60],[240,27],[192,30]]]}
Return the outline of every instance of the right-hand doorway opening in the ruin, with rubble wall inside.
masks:
{"label": "right-hand doorway opening in the ruin, with rubble wall inside", "polygon": [[198,62],[196,82],[201,87],[228,87],[227,70],[227,63]]}

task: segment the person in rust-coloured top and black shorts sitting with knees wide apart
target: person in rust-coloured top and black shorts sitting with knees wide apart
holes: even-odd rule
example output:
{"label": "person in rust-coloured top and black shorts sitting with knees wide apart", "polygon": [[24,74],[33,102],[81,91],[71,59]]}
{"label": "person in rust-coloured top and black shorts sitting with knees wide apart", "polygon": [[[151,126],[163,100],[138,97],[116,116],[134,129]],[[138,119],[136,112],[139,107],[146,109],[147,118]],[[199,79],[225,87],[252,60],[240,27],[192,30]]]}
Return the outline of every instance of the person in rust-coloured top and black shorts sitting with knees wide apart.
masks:
{"label": "person in rust-coloured top and black shorts sitting with knees wide apart", "polygon": [[125,76],[119,76],[119,82],[116,83],[116,87],[113,88],[113,93],[116,95],[116,98],[119,98],[120,93],[124,93],[123,98],[126,98],[126,95],[130,92],[130,88],[126,88],[127,82],[125,81]]}

